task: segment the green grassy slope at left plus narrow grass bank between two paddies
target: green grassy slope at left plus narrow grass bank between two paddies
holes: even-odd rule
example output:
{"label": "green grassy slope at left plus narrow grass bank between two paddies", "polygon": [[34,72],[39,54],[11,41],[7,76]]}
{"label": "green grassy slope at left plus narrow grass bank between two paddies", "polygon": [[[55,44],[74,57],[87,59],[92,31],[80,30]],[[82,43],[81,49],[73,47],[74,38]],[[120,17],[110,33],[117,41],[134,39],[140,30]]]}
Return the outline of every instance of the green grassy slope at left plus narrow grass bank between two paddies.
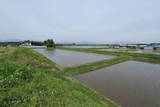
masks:
{"label": "green grassy slope at left plus narrow grass bank between two paddies", "polygon": [[[73,74],[73,70],[91,70],[117,63],[116,59],[110,61],[88,63],[74,69],[66,68],[65,71],[72,70],[70,73]],[[69,73],[65,71],[32,49],[0,48],[0,106],[118,106],[69,79]]]}

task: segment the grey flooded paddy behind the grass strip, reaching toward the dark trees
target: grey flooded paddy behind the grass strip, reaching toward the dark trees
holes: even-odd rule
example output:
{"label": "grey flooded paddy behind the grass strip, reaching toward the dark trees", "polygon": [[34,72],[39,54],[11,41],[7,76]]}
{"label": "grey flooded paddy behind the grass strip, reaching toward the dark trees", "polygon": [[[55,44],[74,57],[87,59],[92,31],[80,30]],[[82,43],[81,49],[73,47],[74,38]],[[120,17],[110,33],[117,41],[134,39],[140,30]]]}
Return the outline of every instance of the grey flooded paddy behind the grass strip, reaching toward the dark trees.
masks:
{"label": "grey flooded paddy behind the grass strip, reaching toward the dark trees", "polygon": [[109,55],[65,51],[65,50],[59,50],[59,49],[55,49],[55,50],[35,49],[35,50],[63,67],[74,66],[74,65],[94,62],[98,60],[110,59],[114,57]]}

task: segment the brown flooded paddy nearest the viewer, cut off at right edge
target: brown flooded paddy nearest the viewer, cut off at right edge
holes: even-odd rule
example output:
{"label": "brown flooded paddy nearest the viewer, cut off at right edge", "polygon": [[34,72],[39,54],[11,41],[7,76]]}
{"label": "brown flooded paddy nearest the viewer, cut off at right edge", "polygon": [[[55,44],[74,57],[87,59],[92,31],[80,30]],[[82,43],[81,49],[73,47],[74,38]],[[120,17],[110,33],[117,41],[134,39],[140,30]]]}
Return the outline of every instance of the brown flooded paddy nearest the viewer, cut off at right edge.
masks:
{"label": "brown flooded paddy nearest the viewer, cut off at right edge", "polygon": [[123,107],[160,107],[159,64],[128,61],[74,78]]}

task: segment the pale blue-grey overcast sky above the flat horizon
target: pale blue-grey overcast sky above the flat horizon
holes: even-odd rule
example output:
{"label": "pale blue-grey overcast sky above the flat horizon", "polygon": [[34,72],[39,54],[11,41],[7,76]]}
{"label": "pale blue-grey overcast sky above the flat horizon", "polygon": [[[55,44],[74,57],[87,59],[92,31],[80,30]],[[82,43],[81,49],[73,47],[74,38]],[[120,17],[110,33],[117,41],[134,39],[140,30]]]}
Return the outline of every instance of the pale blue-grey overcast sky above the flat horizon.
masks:
{"label": "pale blue-grey overcast sky above the flat horizon", "polygon": [[0,0],[0,40],[160,42],[160,0]]}

